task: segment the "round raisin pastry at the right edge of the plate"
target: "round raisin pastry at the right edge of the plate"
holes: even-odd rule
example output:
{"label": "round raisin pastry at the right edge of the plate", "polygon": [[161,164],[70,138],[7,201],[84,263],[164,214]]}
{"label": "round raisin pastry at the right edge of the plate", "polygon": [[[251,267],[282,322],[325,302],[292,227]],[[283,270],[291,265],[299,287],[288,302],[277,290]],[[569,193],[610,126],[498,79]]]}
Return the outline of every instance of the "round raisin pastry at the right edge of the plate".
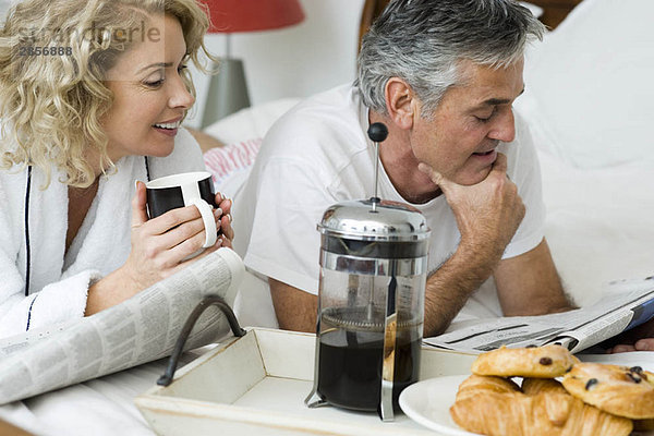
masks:
{"label": "round raisin pastry at the right edge of the plate", "polygon": [[654,419],[654,374],[640,366],[579,363],[562,383],[572,396],[608,413]]}

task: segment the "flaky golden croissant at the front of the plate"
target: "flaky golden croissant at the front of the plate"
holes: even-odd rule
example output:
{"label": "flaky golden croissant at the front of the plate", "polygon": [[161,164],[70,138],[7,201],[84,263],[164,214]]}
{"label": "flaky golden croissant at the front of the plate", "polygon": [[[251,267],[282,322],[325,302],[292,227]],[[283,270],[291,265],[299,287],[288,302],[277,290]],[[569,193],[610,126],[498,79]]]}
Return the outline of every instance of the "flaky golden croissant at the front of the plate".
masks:
{"label": "flaky golden croissant at the front of the plate", "polygon": [[472,375],[461,384],[450,414],[462,428],[488,436],[627,436],[631,433],[631,420],[584,404],[565,392],[560,385],[556,386],[556,380],[526,383],[529,395],[517,390],[512,382]]}

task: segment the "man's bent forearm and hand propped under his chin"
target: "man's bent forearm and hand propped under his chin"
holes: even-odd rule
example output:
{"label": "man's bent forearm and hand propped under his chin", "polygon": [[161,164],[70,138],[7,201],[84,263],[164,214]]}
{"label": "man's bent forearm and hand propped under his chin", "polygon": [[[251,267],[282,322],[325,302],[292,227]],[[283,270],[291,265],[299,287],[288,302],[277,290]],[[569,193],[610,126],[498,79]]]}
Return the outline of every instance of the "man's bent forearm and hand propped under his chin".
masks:
{"label": "man's bent forearm and hand propped under his chin", "polygon": [[457,252],[427,279],[425,336],[434,336],[449,326],[470,294],[497,268],[524,218],[524,205],[507,178],[502,154],[486,179],[470,186],[446,179],[425,164],[417,168],[440,187],[461,233]]}

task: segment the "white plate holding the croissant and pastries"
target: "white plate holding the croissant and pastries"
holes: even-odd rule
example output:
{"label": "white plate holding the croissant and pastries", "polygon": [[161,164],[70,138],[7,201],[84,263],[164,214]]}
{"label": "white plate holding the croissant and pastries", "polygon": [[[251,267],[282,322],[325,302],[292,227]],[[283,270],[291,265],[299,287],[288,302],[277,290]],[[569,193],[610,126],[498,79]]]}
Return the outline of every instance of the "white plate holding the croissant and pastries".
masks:
{"label": "white plate holding the croissant and pastries", "polygon": [[461,429],[449,414],[459,385],[468,377],[468,375],[450,375],[415,383],[400,393],[400,408],[416,423],[443,435],[476,435]]}

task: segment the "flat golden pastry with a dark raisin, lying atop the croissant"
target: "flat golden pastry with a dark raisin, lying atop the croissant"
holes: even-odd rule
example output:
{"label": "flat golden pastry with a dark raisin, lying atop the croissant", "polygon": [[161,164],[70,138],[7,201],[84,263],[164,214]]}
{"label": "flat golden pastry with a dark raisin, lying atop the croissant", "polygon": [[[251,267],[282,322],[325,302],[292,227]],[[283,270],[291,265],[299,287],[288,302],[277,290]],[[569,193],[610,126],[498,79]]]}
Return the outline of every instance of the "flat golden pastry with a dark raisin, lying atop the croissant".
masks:
{"label": "flat golden pastry with a dark raisin, lying atop the croissant", "polygon": [[472,373],[500,377],[560,377],[579,362],[567,348],[544,346],[506,348],[480,354],[472,364]]}

